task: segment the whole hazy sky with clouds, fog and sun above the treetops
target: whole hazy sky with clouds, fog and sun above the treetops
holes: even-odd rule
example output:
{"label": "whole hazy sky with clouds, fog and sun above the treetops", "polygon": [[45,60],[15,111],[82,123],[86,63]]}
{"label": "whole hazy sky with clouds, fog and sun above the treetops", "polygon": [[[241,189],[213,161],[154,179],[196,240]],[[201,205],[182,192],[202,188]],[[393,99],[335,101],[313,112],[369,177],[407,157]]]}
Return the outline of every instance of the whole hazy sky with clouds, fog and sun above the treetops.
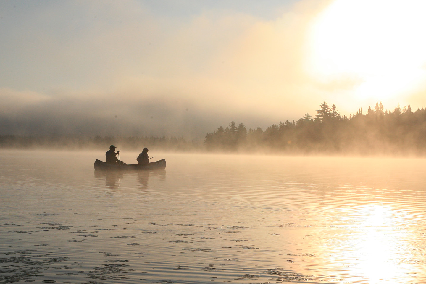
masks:
{"label": "whole hazy sky with clouds, fog and sun above the treetops", "polygon": [[202,139],[426,106],[420,0],[0,1],[0,135]]}

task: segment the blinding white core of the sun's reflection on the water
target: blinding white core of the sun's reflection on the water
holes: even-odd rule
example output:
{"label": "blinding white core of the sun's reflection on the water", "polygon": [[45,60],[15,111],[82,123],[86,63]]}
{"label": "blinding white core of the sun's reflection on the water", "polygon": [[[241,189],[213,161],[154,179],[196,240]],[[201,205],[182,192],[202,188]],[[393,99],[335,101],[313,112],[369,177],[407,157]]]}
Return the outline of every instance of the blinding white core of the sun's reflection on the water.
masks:
{"label": "blinding white core of the sun's reflection on the water", "polygon": [[[412,265],[409,243],[410,232],[399,227],[410,221],[395,209],[376,204],[359,208],[355,220],[359,234],[354,236],[351,254],[357,255],[356,270],[368,284],[400,283],[416,270]],[[394,279],[394,280],[392,280]],[[398,280],[396,280],[398,279]]]}

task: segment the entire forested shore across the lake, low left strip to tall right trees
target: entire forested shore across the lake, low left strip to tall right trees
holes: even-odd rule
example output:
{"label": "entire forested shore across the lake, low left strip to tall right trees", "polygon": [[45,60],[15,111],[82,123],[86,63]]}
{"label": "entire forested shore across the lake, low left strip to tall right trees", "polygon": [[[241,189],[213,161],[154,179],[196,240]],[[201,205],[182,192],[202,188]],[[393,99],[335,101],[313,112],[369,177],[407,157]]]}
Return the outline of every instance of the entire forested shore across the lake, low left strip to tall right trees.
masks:
{"label": "entire forested shore across the lake, low left strip to tall right trees", "polygon": [[359,109],[354,115],[341,116],[337,107],[324,101],[313,118],[306,113],[296,122],[246,129],[231,121],[228,126],[207,133],[204,141],[183,137],[155,136],[19,136],[0,135],[1,148],[46,149],[120,149],[144,147],[168,151],[210,151],[242,153],[277,153],[291,155],[425,155],[426,110],[412,112],[410,105],[384,110],[383,104]]}

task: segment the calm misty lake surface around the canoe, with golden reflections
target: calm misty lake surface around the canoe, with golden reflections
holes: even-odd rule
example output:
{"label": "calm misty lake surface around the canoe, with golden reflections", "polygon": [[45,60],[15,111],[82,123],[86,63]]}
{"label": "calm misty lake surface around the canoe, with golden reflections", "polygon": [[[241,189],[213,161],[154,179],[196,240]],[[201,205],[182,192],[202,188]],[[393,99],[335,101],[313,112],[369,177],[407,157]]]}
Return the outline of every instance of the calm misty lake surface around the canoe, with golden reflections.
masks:
{"label": "calm misty lake surface around the canoe, with golden reflections", "polygon": [[0,283],[426,283],[424,159],[0,153]]}

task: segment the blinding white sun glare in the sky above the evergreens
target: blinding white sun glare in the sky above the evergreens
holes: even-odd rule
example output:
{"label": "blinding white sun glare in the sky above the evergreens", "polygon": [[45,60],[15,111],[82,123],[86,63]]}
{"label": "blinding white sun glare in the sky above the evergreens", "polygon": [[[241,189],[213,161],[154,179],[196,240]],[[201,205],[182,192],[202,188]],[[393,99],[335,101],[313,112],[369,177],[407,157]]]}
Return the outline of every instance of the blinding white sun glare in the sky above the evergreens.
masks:
{"label": "blinding white sun glare in the sky above the evergreens", "polygon": [[309,35],[308,72],[358,99],[414,91],[426,75],[426,1],[335,0]]}

